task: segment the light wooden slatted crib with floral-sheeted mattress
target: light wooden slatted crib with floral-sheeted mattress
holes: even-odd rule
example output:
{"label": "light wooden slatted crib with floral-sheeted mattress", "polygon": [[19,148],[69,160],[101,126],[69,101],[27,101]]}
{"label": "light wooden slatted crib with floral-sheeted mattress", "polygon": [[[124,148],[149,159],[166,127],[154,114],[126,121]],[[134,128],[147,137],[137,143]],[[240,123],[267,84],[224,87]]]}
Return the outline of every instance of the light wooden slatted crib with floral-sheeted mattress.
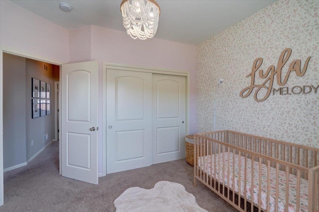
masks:
{"label": "light wooden slatted crib with floral-sheeted mattress", "polygon": [[242,212],[318,212],[318,158],[318,148],[284,141],[233,131],[196,134],[194,186],[199,180]]}

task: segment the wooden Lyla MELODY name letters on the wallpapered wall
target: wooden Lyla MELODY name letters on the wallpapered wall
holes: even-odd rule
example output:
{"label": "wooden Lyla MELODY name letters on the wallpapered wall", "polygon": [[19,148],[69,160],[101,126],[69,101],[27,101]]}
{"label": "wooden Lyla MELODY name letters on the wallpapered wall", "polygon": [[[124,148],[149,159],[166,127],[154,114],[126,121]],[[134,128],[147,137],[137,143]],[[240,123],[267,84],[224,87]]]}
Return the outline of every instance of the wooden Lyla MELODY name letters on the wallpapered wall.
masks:
{"label": "wooden Lyla MELODY name letters on the wallpapered wall", "polygon": [[[255,91],[254,98],[255,98],[255,101],[257,101],[257,102],[262,102],[262,101],[266,100],[271,93],[273,93],[273,95],[275,95],[275,93],[278,93],[278,92],[280,95],[300,94],[300,93],[307,94],[307,93],[312,92],[312,90],[315,93],[317,93],[319,85],[317,85],[317,86],[303,85],[303,86],[294,86],[294,87],[280,87],[278,89],[273,88],[275,74],[277,76],[276,77],[277,84],[279,86],[284,86],[288,81],[288,78],[290,76],[290,72],[295,71],[297,76],[303,76],[306,73],[308,63],[309,63],[309,60],[311,57],[307,58],[304,66],[303,66],[303,69],[301,69],[301,60],[293,61],[288,68],[288,71],[286,73],[285,78],[282,79],[282,69],[285,66],[285,64],[287,63],[291,53],[292,53],[292,50],[289,48],[285,49],[281,53],[281,55],[278,59],[277,69],[275,68],[275,66],[270,66],[268,68],[268,70],[265,72],[263,70],[259,70],[259,77],[262,79],[265,79],[265,81],[262,84],[255,84],[256,71],[258,71],[258,69],[260,68],[260,66],[263,63],[262,58],[256,58],[256,60],[254,61],[251,73],[247,75],[247,77],[249,77],[249,76],[251,77],[250,85],[248,87],[244,88],[240,92],[240,94],[239,94],[240,97],[246,98],[247,96],[249,96],[252,93],[252,91],[255,87],[257,88],[257,90]],[[266,89],[265,91],[267,91],[267,92],[262,98],[259,97],[260,99],[258,99],[257,95],[258,95],[259,91],[262,90],[262,88]]]}

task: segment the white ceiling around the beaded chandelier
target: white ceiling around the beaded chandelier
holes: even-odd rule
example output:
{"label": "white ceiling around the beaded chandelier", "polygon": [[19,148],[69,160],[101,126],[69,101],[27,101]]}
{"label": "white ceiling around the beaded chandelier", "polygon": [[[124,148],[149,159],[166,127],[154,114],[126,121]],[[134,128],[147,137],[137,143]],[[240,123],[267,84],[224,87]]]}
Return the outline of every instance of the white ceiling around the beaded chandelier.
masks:
{"label": "white ceiling around the beaded chandelier", "polygon": [[[125,31],[121,0],[9,0],[61,27],[96,25]],[[157,0],[160,20],[156,38],[198,45],[276,0]],[[60,9],[69,3],[71,12]]]}

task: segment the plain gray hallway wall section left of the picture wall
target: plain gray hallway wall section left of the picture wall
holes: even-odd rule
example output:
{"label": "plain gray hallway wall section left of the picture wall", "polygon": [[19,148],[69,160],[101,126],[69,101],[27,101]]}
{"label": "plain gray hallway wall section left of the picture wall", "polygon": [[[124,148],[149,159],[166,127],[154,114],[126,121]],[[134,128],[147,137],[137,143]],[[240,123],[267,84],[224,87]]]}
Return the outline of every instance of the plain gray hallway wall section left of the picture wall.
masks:
{"label": "plain gray hallway wall section left of the picture wall", "polygon": [[26,162],[25,58],[3,54],[3,168]]}

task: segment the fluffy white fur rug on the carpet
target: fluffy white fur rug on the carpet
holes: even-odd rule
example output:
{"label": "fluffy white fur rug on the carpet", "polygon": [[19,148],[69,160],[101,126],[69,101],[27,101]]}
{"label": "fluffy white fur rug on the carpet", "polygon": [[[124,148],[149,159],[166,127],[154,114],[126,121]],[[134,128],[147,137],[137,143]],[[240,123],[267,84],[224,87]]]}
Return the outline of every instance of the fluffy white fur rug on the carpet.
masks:
{"label": "fluffy white fur rug on the carpet", "polygon": [[117,212],[207,212],[178,183],[160,181],[153,189],[127,189],[115,201]]}

